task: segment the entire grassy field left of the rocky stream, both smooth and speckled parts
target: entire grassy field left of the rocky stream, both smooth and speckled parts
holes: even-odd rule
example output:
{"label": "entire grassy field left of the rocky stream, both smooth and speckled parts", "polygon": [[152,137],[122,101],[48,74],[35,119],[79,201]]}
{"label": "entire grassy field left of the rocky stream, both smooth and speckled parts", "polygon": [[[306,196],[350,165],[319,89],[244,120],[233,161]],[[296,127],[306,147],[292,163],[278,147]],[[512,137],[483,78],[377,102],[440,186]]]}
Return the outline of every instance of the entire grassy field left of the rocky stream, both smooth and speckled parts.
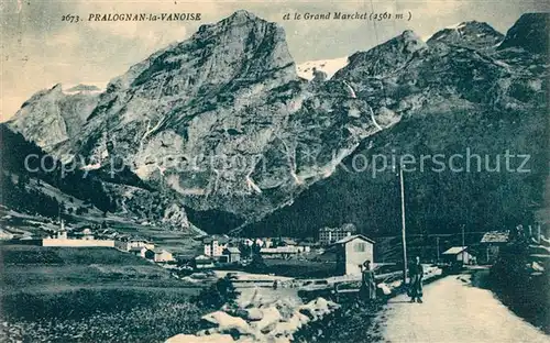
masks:
{"label": "entire grassy field left of the rocky stream, both smooth and speckled parts", "polygon": [[0,245],[0,342],[164,342],[200,289],[113,248]]}

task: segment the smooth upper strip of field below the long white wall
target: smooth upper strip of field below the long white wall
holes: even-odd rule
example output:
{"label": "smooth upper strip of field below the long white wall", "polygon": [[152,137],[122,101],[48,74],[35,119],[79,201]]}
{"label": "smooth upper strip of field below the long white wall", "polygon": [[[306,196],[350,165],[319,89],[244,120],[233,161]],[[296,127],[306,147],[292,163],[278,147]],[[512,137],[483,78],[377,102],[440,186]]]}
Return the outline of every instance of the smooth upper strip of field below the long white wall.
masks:
{"label": "smooth upper strip of field below the long white wall", "polygon": [[109,247],[0,245],[4,292],[87,287],[180,287],[160,266]]}

